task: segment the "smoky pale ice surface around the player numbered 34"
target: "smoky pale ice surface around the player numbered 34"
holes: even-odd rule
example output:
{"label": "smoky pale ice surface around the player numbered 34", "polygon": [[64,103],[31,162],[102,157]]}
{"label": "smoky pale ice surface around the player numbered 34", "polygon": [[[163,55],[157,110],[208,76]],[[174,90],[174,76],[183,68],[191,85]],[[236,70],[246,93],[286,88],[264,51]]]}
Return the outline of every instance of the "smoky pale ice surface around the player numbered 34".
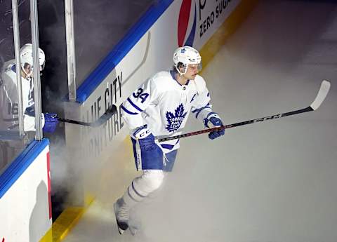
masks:
{"label": "smoky pale ice surface around the player numbered 34", "polygon": [[[114,200],[138,175],[131,148],[124,143],[112,147],[111,155],[95,163],[84,157],[76,167],[97,199],[74,236],[95,241],[336,241],[337,70],[329,50],[337,25],[331,11],[336,16],[329,3],[305,2],[304,8],[300,1],[262,1],[202,74],[213,109],[226,124],[307,107],[320,80],[330,79],[331,93],[317,112],[228,129],[218,140],[207,135],[182,139],[164,187],[133,211],[142,228],[137,236],[119,236],[112,212]],[[310,23],[315,29],[308,32]],[[329,43],[320,41],[326,32]],[[191,116],[187,127],[186,132],[199,130],[201,124]]]}

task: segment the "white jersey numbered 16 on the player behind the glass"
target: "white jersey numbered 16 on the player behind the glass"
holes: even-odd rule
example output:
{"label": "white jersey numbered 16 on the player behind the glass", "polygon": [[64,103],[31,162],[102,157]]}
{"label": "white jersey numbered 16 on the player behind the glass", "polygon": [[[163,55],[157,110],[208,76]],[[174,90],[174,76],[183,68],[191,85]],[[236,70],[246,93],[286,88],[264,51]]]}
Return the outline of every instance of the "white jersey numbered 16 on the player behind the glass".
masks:
{"label": "white jersey numbered 16 on the player behind the glass", "polygon": [[[8,63],[8,62],[7,62]],[[21,77],[22,83],[22,107],[24,111],[24,130],[35,130],[34,112],[34,85],[32,79]],[[18,130],[18,90],[16,83],[16,68],[13,62],[5,66],[1,75],[0,83],[0,105],[1,105],[1,130]],[[42,115],[43,116],[43,115]],[[42,118],[44,125],[44,118]]]}

